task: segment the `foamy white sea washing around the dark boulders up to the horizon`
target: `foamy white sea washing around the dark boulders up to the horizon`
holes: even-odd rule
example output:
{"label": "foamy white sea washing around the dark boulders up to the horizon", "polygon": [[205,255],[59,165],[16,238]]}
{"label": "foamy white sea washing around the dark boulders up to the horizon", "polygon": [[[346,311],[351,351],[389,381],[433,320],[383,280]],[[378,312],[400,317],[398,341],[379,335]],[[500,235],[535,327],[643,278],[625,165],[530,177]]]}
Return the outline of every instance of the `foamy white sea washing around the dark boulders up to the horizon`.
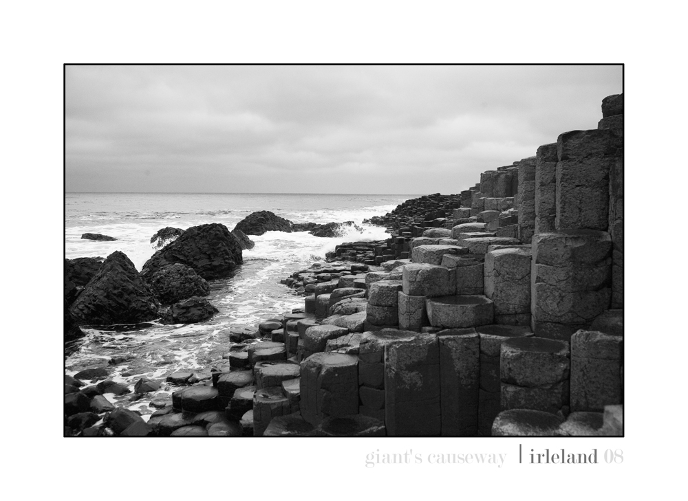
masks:
{"label": "foamy white sea washing around the dark boulders up to the horizon", "polygon": [[[303,308],[303,297],[280,280],[316,262],[336,245],[352,241],[377,241],[389,237],[384,227],[363,224],[382,216],[416,194],[208,194],[208,193],[66,193],[65,258],[103,257],[124,252],[136,269],[153,255],[151,236],[172,226],[186,230],[206,223],[222,223],[229,230],[248,214],[270,210],[293,223],[354,221],[362,231],[350,230],[335,238],[308,232],[266,232],[252,235],[255,247],[244,250],[244,264],[232,276],[210,283],[208,300],[219,310],[200,324],[117,326],[83,329],[85,337],[65,351],[65,373],[105,366],[110,379],[133,385],[142,377],[160,381],[162,388],[132,401],[131,394],[105,397],[118,406],[140,412],[144,418],[155,408],[152,399],[175,388],[167,385],[171,372],[193,372],[208,377],[213,364],[222,362],[232,343],[233,330],[257,329],[259,322]],[[116,241],[90,241],[84,233],[100,233]],[[110,364],[113,357],[127,361]],[[161,395],[162,394],[162,395]]]}

